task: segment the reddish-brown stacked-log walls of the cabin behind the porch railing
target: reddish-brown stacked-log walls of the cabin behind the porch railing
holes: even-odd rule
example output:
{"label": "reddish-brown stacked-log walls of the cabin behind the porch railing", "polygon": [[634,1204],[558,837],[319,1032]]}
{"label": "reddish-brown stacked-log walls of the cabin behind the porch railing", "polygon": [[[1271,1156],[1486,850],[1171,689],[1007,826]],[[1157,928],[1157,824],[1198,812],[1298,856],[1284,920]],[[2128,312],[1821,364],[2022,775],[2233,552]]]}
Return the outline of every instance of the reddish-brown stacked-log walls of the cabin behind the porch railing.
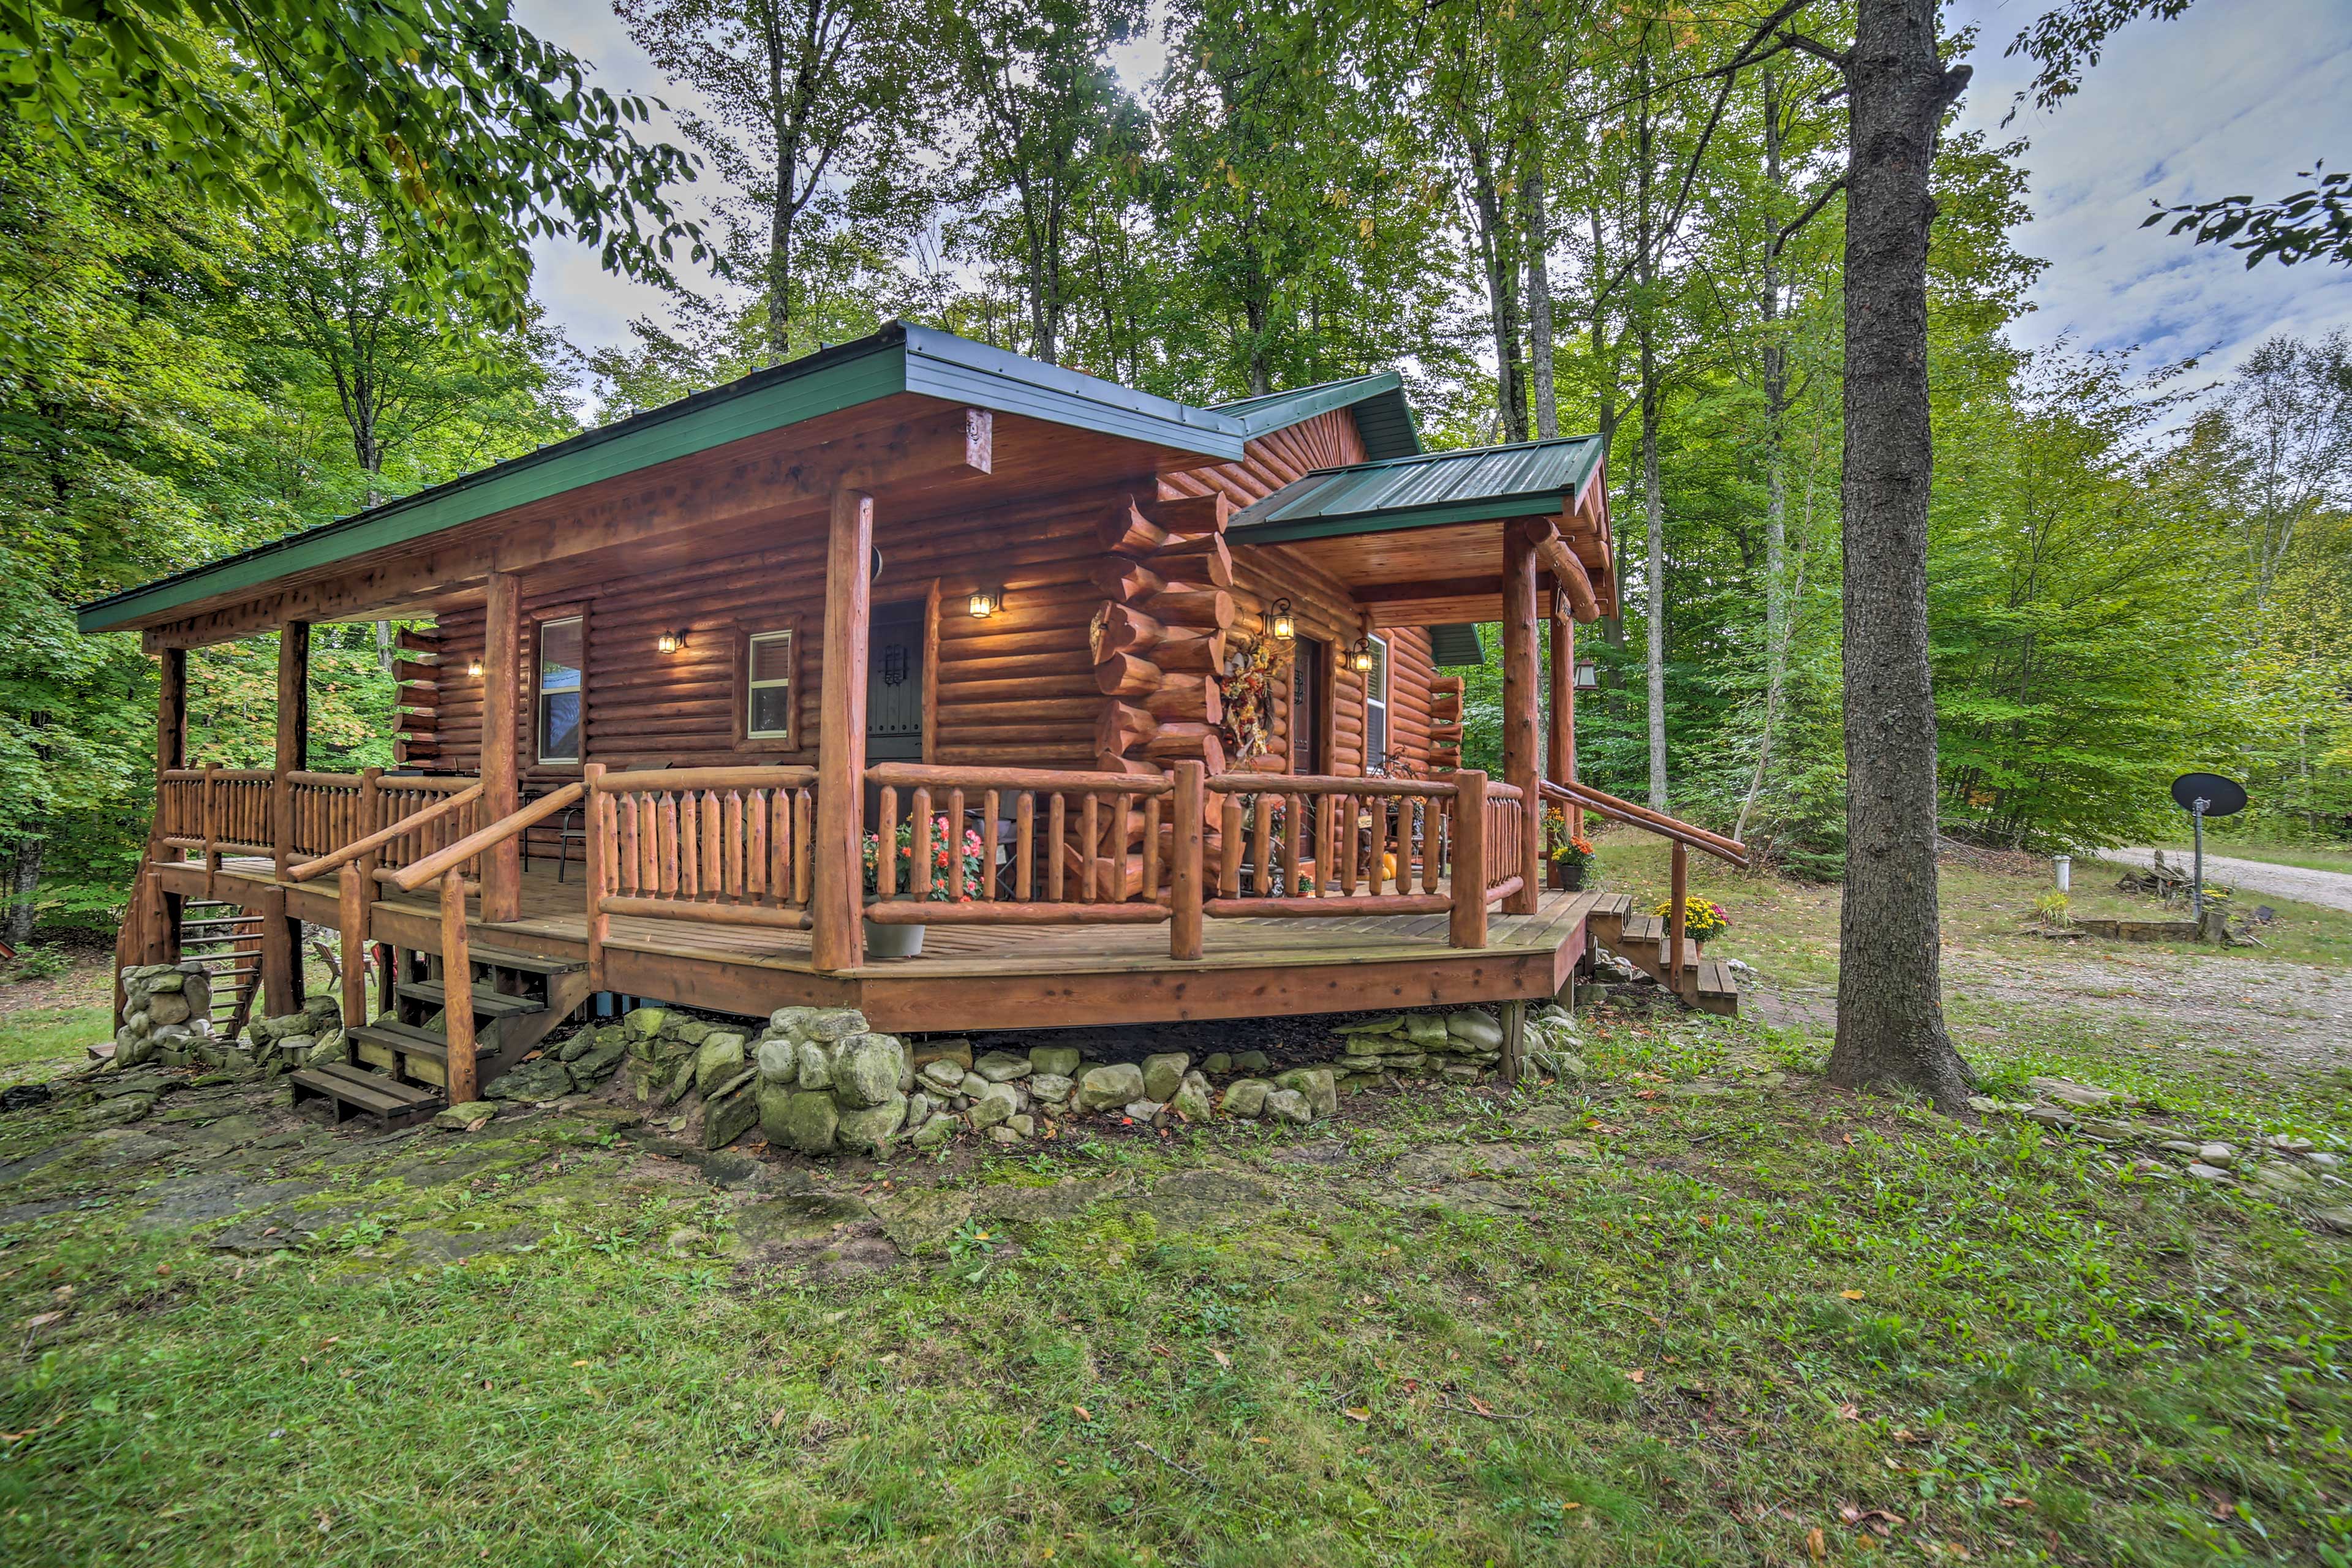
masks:
{"label": "reddish-brown stacked-log walls of the cabin behind the porch railing", "polygon": [[[1216,677],[1237,635],[1263,635],[1268,607],[1289,597],[1301,632],[1331,646],[1324,715],[1334,771],[1364,769],[1364,682],[1345,649],[1364,635],[1348,588],[1279,548],[1232,548],[1223,524],[1312,468],[1362,461],[1348,411],[1322,414],[1249,444],[1240,463],[1044,496],[983,515],[875,524],[884,569],[875,604],[924,599],[938,583],[938,658],[929,759],[936,764],[1077,766],[1160,773],[1178,759],[1225,771]],[[823,527],[720,555],[691,569],[630,574],[626,557],[593,590],[539,590],[524,578],[524,668],[517,712],[522,778],[550,788],[576,766],[541,766],[532,698],[532,625],[550,611],[586,614],[586,757],[609,766],[814,764],[823,686]],[[1004,609],[967,611],[976,588],[1002,588]],[[790,745],[739,741],[736,661],[746,630],[797,625]],[[661,632],[684,646],[659,654]],[[1432,752],[1428,637],[1390,639],[1390,748],[1425,771]],[[402,637],[400,759],[473,771],[482,752],[482,609],[459,607]],[[1272,750],[1256,766],[1303,771],[1308,738],[1289,733],[1289,682],[1277,684]],[[1105,844],[1108,853],[1115,846]]]}

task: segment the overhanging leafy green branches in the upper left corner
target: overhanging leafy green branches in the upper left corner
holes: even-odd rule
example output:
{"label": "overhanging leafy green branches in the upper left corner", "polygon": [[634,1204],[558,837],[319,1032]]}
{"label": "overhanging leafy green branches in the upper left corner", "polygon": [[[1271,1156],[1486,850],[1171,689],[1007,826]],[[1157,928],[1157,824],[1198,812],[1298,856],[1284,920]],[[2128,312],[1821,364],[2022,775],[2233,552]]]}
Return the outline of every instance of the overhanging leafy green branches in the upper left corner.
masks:
{"label": "overhanging leafy green branches in the upper left corner", "polygon": [[7,122],[64,158],[113,162],[129,139],[193,202],[320,226],[355,183],[421,310],[520,317],[539,237],[656,280],[675,242],[703,256],[663,195],[691,165],[630,129],[647,103],[588,85],[506,5],[0,0],[0,52]]}

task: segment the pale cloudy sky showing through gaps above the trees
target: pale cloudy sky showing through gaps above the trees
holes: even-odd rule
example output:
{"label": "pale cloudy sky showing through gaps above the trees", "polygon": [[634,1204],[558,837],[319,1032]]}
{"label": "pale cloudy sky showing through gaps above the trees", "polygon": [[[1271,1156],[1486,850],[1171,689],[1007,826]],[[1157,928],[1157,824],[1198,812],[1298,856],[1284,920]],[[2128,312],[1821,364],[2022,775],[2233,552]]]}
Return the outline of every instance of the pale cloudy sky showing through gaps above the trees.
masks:
{"label": "pale cloudy sky showing through gaps above the trees", "polygon": [[[2352,268],[2249,270],[2237,252],[2140,228],[2152,197],[2277,197],[2300,190],[2296,176],[2314,160],[2352,160],[2352,5],[2199,0],[2178,21],[2133,24],[2077,96],[2053,113],[2018,110],[2004,129],[2030,71],[2002,52],[2049,2],[1945,5],[1947,24],[1978,28],[1962,125],[2030,143],[2020,162],[2032,219],[2013,242],[2049,266],[2016,341],[2140,348],[2150,364],[2197,355],[2227,371],[2272,334],[2352,327]],[[607,5],[520,0],[515,9],[524,26],[593,61],[607,89],[675,99]],[[1127,49],[1117,66],[1141,89],[1160,68],[1157,42]],[[656,115],[656,132],[680,141],[666,115]],[[635,315],[666,313],[659,289],[607,275],[586,247],[541,242],[534,261],[534,294],[581,350],[626,341]]]}

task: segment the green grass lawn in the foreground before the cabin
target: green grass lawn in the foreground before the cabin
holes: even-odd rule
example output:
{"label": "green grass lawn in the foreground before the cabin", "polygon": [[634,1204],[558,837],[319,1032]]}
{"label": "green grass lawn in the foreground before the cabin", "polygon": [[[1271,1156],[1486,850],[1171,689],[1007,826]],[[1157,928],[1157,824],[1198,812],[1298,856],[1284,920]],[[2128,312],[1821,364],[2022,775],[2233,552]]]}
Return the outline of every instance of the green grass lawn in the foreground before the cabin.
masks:
{"label": "green grass lawn in the foreground before the cabin", "polygon": [[[1759,964],[1818,938],[1811,889],[1719,896]],[[2067,1072],[2199,1131],[2352,1140],[2326,1074],[2223,1081],[1985,1006],[1955,1023],[1997,1088]],[[2352,1244],[1830,1091],[1820,1034],[1583,1032],[1583,1086],[1364,1095],[1287,1135],[1338,1164],[1225,1126],[818,1173],[1110,1182],[880,1272],[854,1232],[755,1255],[774,1204],[576,1119],[223,1154],[233,1124],[151,1117],[188,1150],[0,1185],[59,1204],[0,1220],[0,1559],[1517,1568],[1809,1563],[1820,1530],[1851,1563],[2352,1563]],[[66,1131],[5,1117],[0,1161]],[[1454,1145],[1524,1159],[1526,1206],[1399,1185]],[[482,1164],[445,1180],[419,1147]],[[318,1182],[299,1204],[334,1222],[270,1258],[141,1222],[158,1182],[228,1168]],[[1263,1197],[1162,1201],[1202,1168]],[[445,1262],[449,1237],[506,1244]]]}

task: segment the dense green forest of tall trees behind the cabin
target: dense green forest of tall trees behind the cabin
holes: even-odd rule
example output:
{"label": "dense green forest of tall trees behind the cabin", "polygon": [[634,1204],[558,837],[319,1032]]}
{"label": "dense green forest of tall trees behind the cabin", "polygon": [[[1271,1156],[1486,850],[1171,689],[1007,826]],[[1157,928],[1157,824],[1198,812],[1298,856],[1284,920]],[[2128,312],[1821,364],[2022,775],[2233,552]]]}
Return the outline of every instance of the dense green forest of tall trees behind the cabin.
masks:
{"label": "dense green forest of tall trees behind the cabin", "polygon": [[[0,936],[111,924],[146,830],[153,663],[75,635],[73,604],[891,317],[1185,402],[1397,367],[1432,447],[1599,430],[1625,616],[1581,639],[1583,776],[1837,875],[1844,108],[1804,54],[1710,75],[1750,7],[619,19],[694,103],[717,195],[682,240],[724,287],[668,275],[659,317],[586,353],[529,301],[520,230],[421,266],[381,183],[268,179],[301,127],[219,40],[183,35],[179,68],[252,167],[230,139],[191,174],[136,103],[66,139],[0,122]],[[1112,54],[1152,28],[1167,68],[1131,92]],[[2253,790],[2244,832],[2343,835],[2352,339],[2279,336],[2227,376],[2020,346],[2027,162],[1952,129],[1936,172],[1943,827],[2169,837],[2166,780],[2206,766]],[[390,762],[386,649],[315,632],[315,766]],[[273,670],[268,637],[191,661],[193,757],[266,766]],[[1468,762],[1496,766],[1498,672],[1470,698]]]}

